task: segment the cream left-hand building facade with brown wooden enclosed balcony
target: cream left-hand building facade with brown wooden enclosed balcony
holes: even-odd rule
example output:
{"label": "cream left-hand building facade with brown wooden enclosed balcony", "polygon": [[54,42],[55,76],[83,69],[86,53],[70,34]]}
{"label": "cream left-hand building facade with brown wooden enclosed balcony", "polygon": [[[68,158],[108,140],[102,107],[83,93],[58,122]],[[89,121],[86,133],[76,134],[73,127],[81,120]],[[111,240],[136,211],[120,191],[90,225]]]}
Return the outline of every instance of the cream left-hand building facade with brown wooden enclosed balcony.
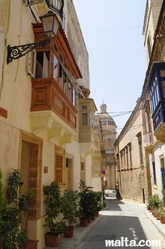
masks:
{"label": "cream left-hand building facade with brown wooden enclosed balcony", "polygon": [[95,149],[96,107],[85,96],[90,92],[88,52],[73,2],[64,1],[63,19],[50,43],[6,60],[8,45],[45,39],[40,17],[54,11],[57,2],[0,1],[0,165],[4,187],[11,170],[19,169],[22,191],[31,188],[36,194],[24,228],[30,239],[39,240],[38,248],[44,247],[46,232],[43,185],[56,180],[61,190],[78,190],[84,171],[91,186]]}

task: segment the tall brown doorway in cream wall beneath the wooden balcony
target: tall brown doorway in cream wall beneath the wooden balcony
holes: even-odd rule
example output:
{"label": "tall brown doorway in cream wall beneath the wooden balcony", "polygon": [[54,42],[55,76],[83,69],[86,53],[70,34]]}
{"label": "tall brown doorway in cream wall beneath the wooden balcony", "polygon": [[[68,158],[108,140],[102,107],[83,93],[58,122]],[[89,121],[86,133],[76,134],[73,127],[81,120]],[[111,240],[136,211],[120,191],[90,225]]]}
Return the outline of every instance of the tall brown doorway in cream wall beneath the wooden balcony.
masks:
{"label": "tall brown doorway in cream wall beneath the wooden balcony", "polygon": [[[26,137],[27,138],[27,137]],[[35,141],[35,140],[34,140]],[[29,210],[22,223],[22,229],[28,227],[28,219],[36,219],[40,216],[41,209],[41,179],[40,174],[40,160],[39,147],[41,143],[33,143],[33,139],[22,139],[21,143],[21,157],[20,157],[20,173],[22,186],[20,194],[24,194],[27,189],[31,189],[35,193],[33,198],[32,208]]]}

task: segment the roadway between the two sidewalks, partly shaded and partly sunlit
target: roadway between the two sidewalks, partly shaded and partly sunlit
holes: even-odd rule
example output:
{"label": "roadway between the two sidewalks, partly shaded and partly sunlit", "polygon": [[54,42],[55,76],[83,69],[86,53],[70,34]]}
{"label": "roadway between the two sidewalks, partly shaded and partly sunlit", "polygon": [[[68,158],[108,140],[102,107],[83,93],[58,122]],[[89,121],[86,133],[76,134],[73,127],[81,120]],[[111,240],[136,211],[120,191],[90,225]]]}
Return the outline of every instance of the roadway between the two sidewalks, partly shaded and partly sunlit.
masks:
{"label": "roadway between the two sidewalks, partly shaded and partly sunlit", "polygon": [[[165,248],[165,238],[146,216],[145,205],[114,199],[106,200],[106,204],[106,208],[100,212],[102,218],[76,249]],[[125,238],[127,242],[122,242]],[[110,245],[107,240],[113,240],[116,244]],[[161,246],[148,246],[153,240],[161,241]],[[128,241],[137,244],[128,245]],[[139,241],[142,241],[140,245]]]}

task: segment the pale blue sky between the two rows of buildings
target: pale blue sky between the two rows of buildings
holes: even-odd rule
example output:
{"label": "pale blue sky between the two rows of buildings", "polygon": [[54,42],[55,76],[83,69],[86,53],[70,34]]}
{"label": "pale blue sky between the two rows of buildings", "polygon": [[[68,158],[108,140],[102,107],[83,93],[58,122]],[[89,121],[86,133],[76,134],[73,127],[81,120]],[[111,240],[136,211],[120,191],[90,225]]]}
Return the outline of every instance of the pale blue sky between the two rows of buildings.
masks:
{"label": "pale blue sky between the two rows of buildings", "polygon": [[[142,35],[146,0],[73,0],[89,54],[90,98],[119,134],[141,96],[146,73]],[[102,4],[102,5],[101,5]]]}

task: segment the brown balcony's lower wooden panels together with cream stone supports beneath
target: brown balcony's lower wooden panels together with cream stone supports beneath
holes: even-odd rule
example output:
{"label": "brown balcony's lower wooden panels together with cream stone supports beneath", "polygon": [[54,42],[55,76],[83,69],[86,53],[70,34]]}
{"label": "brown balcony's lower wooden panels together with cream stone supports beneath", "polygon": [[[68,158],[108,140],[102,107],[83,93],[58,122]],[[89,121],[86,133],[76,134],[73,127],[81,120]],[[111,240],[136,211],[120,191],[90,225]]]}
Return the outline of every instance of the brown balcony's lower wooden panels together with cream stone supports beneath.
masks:
{"label": "brown balcony's lower wooden panels together with cream stone supports beneath", "polygon": [[73,136],[77,134],[76,115],[76,108],[53,78],[32,79],[31,119],[34,133],[48,129],[51,136],[53,133]]}

